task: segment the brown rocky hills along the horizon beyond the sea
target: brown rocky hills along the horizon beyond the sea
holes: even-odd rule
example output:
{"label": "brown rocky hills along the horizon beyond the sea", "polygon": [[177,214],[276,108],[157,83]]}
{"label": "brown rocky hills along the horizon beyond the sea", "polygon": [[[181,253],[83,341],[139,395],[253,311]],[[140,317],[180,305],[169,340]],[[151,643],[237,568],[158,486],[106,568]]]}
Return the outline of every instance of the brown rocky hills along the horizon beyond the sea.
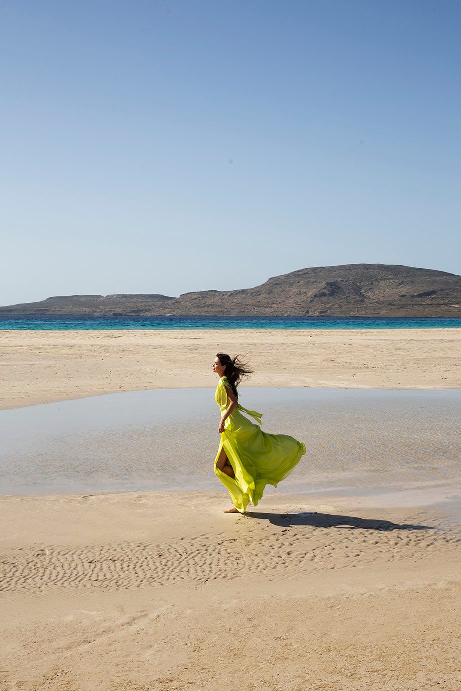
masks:
{"label": "brown rocky hills along the horizon beyond the sea", "polygon": [[348,264],[301,269],[245,290],[207,290],[179,298],[73,295],[0,307],[0,314],[461,317],[461,276],[399,265]]}

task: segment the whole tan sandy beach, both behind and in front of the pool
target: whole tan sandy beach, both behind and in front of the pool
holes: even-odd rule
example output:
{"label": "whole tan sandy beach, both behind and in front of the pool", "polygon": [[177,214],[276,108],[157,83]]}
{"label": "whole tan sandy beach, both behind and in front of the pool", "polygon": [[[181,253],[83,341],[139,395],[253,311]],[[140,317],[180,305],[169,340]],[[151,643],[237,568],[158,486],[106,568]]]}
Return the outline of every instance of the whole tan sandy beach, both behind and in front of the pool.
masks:
{"label": "whole tan sandy beach, both behind and in front of the pool", "polygon": [[[251,357],[252,386],[459,388],[460,344],[460,330],[2,332],[1,406],[214,388],[221,349]],[[242,516],[217,481],[1,496],[0,689],[456,691],[459,497],[455,482],[281,484]]]}

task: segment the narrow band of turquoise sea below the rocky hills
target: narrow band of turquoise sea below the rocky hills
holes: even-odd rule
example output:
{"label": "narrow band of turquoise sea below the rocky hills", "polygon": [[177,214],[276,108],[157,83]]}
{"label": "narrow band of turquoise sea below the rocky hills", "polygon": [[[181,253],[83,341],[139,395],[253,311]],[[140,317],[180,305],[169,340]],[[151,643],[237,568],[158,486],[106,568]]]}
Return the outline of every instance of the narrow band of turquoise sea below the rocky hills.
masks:
{"label": "narrow band of turquoise sea below the rocky hills", "polygon": [[2,331],[126,331],[179,329],[453,329],[459,319],[384,317],[225,317],[225,316],[5,316]]}

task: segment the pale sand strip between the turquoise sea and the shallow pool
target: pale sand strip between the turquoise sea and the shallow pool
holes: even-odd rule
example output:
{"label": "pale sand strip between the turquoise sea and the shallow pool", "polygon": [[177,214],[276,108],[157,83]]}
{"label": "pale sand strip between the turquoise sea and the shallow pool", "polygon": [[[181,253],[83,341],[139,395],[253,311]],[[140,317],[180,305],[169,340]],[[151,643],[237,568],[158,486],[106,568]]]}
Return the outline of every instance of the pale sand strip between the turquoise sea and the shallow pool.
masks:
{"label": "pale sand strip between the turquoise sea and the shallow pool", "polygon": [[156,388],[214,388],[216,352],[252,386],[461,388],[461,329],[3,331],[0,408]]}

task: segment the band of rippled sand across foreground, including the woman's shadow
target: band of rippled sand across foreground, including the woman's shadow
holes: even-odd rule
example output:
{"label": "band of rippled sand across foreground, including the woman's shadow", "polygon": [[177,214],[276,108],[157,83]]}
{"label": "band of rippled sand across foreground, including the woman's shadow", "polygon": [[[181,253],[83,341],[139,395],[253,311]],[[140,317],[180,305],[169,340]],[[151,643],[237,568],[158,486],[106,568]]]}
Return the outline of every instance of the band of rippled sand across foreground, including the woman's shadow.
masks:
{"label": "band of rippled sand across foreground, including the woman's shadow", "polygon": [[[260,513],[258,518],[274,522],[274,514]],[[0,557],[0,591],[119,591],[184,581],[203,584],[243,575],[285,580],[377,560],[422,558],[439,550],[446,558],[449,551],[458,551],[461,542],[459,531],[445,533],[421,524],[347,516],[278,516],[278,530],[266,529],[263,535],[251,516],[236,520],[239,529],[232,538],[229,533],[205,533],[164,544],[15,549]],[[283,524],[286,527],[280,529]]]}

